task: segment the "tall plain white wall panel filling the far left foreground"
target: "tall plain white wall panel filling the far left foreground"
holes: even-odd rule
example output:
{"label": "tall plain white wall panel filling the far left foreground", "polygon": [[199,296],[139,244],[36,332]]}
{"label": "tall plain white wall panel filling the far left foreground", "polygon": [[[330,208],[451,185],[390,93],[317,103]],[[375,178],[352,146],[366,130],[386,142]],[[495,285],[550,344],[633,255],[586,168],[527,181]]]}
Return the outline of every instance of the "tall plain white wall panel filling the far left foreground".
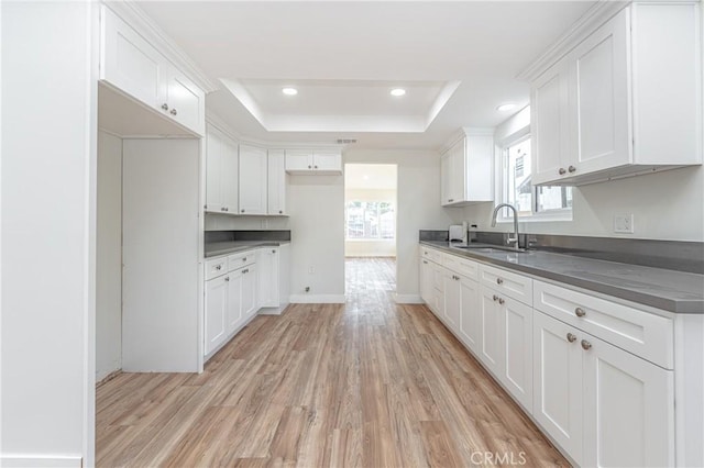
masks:
{"label": "tall plain white wall panel filling the far left foreground", "polygon": [[97,10],[88,1],[0,8],[0,465],[90,466]]}

